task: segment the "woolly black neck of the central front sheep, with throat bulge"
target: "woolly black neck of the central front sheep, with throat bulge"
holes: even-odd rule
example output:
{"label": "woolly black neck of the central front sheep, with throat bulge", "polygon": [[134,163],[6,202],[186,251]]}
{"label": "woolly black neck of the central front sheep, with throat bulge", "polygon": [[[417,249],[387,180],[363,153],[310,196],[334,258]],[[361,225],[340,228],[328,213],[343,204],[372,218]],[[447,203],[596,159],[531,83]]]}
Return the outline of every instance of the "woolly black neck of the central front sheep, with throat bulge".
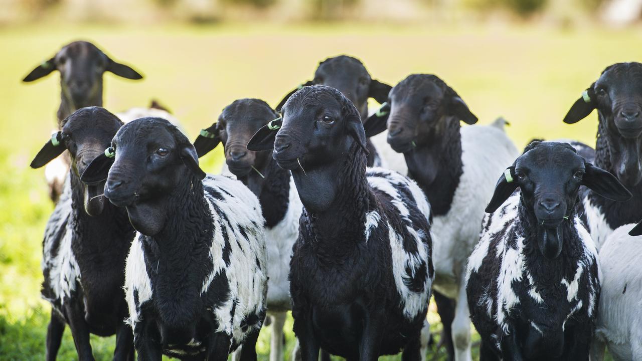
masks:
{"label": "woolly black neck of the central front sheep, with throat bulge", "polygon": [[[372,192],[365,152],[356,144],[342,158],[317,169],[293,170],[304,212],[300,229],[320,253],[343,254],[363,238]],[[323,247],[329,245],[331,247]]]}

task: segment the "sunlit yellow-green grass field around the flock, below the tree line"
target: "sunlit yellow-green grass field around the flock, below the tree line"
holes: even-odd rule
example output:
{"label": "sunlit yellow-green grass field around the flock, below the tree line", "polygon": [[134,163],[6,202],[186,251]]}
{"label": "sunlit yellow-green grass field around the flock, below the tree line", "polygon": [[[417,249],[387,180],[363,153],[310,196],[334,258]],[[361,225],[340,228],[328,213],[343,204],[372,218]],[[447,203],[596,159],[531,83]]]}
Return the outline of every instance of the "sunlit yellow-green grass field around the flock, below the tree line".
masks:
{"label": "sunlit yellow-green grass field around the flock, below the tree line", "polygon": [[[570,137],[593,144],[596,116],[564,125],[566,110],[605,66],[642,58],[642,48],[632,46],[642,40],[638,29],[444,30],[338,24],[0,28],[0,360],[44,358],[49,317],[48,304],[39,298],[40,252],[53,206],[43,171],[30,170],[28,164],[55,127],[58,76],[33,84],[20,80],[76,39],[96,42],[145,75],[140,82],[105,75],[107,109],[147,105],[155,98],[173,110],[191,137],[236,98],[262,98],[275,105],[311,78],[318,61],[347,53],[360,57],[375,78],[390,84],[410,73],[439,75],[480,123],[497,116],[508,119],[508,133],[518,146],[533,137]],[[202,162],[205,170],[218,172],[220,150]],[[429,319],[437,332],[440,325],[432,307]],[[288,351],[292,340],[290,332]],[[110,359],[113,344],[113,338],[92,339],[97,360]],[[257,348],[266,360],[267,330]],[[68,330],[59,356],[76,358]]]}

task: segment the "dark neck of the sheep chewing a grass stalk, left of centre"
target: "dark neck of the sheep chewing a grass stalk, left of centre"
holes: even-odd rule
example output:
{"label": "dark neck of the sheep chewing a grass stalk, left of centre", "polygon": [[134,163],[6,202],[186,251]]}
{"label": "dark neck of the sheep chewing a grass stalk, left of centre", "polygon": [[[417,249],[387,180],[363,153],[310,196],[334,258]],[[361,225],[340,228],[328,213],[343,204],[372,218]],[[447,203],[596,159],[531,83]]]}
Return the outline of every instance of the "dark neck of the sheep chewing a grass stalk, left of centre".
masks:
{"label": "dark neck of the sheep chewing a grass stalk, left of centre", "polygon": [[281,222],[288,211],[290,171],[280,168],[272,157],[268,157],[265,166],[259,167],[258,172],[252,170],[245,177],[239,177],[239,180],[259,198],[265,226],[272,228]]}

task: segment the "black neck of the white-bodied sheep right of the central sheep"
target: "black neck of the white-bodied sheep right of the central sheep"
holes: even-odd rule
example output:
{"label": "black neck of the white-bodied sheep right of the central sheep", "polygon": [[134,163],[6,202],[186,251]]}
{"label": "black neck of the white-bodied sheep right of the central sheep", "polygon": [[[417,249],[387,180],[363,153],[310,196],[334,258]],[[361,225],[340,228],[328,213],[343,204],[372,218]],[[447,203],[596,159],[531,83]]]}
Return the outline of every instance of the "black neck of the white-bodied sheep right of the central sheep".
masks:
{"label": "black neck of the white-bodied sheep right of the central sheep", "polygon": [[444,117],[413,150],[404,153],[408,176],[426,193],[435,216],[446,215],[464,173],[461,125]]}

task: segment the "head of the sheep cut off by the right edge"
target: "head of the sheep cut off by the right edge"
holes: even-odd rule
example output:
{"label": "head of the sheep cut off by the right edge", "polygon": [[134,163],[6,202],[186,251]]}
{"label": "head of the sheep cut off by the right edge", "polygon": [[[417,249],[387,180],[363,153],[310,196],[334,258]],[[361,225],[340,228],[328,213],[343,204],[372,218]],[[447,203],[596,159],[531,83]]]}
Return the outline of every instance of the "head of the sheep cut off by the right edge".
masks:
{"label": "head of the sheep cut off by the right edge", "polygon": [[564,122],[576,123],[593,109],[600,112],[600,132],[611,147],[612,170],[627,186],[642,181],[642,64],[607,67],[575,101]]}

